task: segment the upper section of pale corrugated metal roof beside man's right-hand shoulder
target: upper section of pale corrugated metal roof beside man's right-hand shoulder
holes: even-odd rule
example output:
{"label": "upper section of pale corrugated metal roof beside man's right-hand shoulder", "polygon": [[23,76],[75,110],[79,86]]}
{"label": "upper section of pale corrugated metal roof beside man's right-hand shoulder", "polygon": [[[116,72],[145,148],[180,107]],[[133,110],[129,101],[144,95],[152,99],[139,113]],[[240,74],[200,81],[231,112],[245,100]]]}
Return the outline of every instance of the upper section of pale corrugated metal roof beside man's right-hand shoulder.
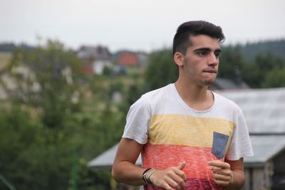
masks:
{"label": "upper section of pale corrugated metal roof beside man's right-hand shoulder", "polygon": [[285,88],[225,90],[217,93],[241,107],[249,133],[285,134]]}

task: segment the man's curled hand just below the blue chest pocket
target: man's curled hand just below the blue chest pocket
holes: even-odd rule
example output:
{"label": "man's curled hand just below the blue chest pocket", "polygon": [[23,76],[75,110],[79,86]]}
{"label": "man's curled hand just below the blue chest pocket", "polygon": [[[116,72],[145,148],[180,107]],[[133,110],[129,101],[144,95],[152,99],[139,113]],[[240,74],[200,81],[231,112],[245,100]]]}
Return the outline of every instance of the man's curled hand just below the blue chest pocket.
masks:
{"label": "man's curled hand just below the blue chest pocket", "polygon": [[233,182],[232,171],[229,163],[214,160],[209,162],[213,171],[214,182],[218,185],[229,186]]}

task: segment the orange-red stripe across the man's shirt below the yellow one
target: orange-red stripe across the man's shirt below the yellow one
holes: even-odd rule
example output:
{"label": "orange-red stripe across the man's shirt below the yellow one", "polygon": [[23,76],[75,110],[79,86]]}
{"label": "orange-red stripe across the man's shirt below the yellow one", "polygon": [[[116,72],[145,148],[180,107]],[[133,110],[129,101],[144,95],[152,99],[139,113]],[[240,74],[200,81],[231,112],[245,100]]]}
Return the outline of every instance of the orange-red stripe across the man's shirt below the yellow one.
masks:
{"label": "orange-red stripe across the man's shirt below the yellow one", "polygon": [[142,166],[155,169],[176,167],[185,161],[183,169],[187,178],[212,179],[208,162],[216,159],[211,148],[188,147],[179,145],[145,144],[142,151]]}

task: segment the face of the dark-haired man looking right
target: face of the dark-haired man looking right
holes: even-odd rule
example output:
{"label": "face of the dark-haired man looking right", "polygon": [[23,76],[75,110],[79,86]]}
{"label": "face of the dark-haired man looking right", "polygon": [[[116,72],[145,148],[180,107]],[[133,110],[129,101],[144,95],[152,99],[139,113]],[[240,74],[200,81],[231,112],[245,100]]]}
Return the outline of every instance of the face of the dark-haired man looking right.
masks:
{"label": "face of the dark-haired man looking right", "polygon": [[219,41],[206,35],[190,36],[190,41],[183,61],[186,78],[197,85],[212,85],[219,66]]}

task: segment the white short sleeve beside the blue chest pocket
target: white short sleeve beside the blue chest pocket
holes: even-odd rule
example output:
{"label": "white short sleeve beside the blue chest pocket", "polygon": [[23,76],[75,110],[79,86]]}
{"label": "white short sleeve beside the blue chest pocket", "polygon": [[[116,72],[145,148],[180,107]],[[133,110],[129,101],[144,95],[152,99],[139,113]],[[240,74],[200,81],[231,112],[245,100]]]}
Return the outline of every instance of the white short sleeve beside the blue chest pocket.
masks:
{"label": "white short sleeve beside the blue chest pocket", "polygon": [[245,121],[242,110],[239,109],[239,116],[232,136],[232,142],[226,155],[226,159],[237,160],[242,157],[252,157],[252,143],[247,130],[247,123]]}

